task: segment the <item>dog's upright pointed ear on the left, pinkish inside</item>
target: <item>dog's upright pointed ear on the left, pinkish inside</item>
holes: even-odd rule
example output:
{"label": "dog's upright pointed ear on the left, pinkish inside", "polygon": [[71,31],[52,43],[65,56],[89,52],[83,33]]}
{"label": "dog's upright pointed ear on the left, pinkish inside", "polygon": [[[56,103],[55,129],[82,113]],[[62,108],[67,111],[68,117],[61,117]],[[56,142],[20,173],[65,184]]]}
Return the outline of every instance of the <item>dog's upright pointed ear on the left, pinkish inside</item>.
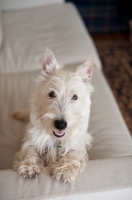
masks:
{"label": "dog's upright pointed ear on the left, pinkish inside", "polygon": [[42,66],[44,72],[46,72],[47,74],[50,74],[55,69],[58,69],[60,67],[59,63],[57,62],[51,50],[46,51]]}

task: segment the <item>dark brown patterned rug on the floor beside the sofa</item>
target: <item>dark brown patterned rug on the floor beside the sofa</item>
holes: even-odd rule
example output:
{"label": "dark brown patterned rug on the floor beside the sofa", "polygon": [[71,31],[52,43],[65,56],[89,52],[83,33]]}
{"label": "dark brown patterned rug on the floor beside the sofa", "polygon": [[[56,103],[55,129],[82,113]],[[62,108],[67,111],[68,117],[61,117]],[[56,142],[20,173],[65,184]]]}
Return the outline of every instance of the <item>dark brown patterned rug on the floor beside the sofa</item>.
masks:
{"label": "dark brown patterned rug on the floor beside the sofa", "polygon": [[128,41],[95,41],[95,45],[103,73],[132,135],[132,44]]}

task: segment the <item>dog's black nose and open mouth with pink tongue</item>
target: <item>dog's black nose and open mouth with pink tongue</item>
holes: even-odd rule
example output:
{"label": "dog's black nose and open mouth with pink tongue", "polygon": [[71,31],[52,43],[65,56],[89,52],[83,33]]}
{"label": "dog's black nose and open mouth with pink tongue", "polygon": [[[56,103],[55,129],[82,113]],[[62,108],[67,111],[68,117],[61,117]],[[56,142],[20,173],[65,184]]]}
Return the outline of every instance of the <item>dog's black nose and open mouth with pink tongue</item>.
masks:
{"label": "dog's black nose and open mouth with pink tongue", "polygon": [[56,137],[63,137],[65,135],[65,129],[67,127],[67,122],[65,120],[55,120],[54,121],[55,129],[53,131],[53,134]]}

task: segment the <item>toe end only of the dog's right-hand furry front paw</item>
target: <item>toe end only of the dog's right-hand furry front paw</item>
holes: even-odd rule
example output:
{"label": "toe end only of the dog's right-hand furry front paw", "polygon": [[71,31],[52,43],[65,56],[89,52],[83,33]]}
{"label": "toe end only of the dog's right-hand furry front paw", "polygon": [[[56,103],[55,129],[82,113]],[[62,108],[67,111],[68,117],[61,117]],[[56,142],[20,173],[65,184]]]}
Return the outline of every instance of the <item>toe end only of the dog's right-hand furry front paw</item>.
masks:
{"label": "toe end only of the dog's right-hand furry front paw", "polygon": [[51,167],[51,176],[57,181],[62,181],[64,183],[71,182],[75,180],[78,169],[76,166],[56,166]]}

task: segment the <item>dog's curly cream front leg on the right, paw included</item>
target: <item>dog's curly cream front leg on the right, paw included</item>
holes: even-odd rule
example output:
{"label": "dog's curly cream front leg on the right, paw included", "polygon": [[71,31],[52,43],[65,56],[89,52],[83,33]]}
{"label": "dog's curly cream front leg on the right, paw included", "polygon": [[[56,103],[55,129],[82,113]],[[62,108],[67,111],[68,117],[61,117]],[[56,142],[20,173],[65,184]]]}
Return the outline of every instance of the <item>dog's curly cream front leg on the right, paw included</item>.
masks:
{"label": "dog's curly cream front leg on the right, paw included", "polygon": [[58,181],[71,182],[86,167],[86,155],[71,151],[51,167],[51,175]]}

